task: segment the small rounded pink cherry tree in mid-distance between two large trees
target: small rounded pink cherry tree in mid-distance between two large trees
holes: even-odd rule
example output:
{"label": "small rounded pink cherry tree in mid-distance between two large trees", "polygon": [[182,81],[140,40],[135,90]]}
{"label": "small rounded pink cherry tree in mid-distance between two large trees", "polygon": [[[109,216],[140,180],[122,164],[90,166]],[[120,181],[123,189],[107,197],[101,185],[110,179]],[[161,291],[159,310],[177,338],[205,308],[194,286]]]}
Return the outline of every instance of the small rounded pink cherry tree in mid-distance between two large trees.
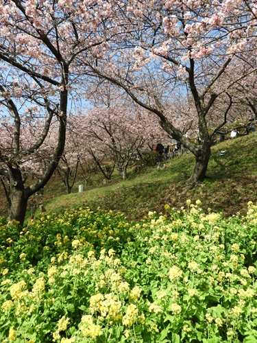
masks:
{"label": "small rounded pink cherry tree in mid-distance between two large trees", "polygon": [[[134,154],[147,149],[153,137],[159,138],[156,119],[143,110],[136,110],[135,106],[128,108],[112,103],[108,107],[94,107],[86,115],[74,119],[79,126],[78,134],[85,139],[84,149],[106,178],[110,178],[115,166],[125,180],[127,166]],[[106,161],[112,162],[109,172],[103,167]]]}

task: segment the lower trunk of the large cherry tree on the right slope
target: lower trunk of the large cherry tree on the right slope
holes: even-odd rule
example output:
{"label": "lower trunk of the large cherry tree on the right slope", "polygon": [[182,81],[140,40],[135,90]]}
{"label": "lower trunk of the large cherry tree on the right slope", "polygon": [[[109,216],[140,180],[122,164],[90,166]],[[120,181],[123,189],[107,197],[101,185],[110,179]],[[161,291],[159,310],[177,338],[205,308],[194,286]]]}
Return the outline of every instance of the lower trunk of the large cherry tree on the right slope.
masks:
{"label": "lower trunk of the large cherry tree on the right slope", "polygon": [[199,153],[197,154],[197,156],[195,156],[195,168],[193,170],[193,174],[191,174],[187,182],[189,186],[195,187],[197,182],[201,182],[204,180],[209,160],[210,146],[207,146],[204,147],[204,149],[202,148],[201,150],[199,150]]}

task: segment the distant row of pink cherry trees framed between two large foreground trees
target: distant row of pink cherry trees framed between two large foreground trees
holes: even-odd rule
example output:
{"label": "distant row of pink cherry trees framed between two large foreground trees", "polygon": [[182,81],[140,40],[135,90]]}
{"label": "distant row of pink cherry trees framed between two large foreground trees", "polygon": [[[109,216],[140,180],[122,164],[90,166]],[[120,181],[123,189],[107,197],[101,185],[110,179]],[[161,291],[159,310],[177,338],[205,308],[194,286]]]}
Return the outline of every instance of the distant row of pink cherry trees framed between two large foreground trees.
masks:
{"label": "distant row of pink cherry trees framed between two large foreground trees", "polygon": [[[51,159],[57,133],[53,128],[42,150],[38,150],[40,166],[46,161],[45,152]],[[57,167],[66,193],[71,192],[78,169],[86,181],[96,170],[110,180],[115,168],[125,180],[127,167],[135,157],[153,151],[156,141],[168,138],[155,117],[147,116],[145,110],[133,104],[94,107],[85,114],[70,116],[66,145]]]}

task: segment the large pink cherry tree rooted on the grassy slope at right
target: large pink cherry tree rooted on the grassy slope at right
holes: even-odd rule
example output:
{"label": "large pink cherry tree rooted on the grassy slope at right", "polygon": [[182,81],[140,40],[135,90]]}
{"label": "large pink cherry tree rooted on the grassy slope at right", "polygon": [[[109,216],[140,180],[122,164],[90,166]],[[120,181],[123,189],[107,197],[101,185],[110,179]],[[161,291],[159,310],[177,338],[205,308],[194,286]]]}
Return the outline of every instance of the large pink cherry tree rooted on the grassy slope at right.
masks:
{"label": "large pink cherry tree rooted on the grassy slope at right", "polygon": [[[85,72],[121,87],[193,152],[191,186],[204,179],[215,134],[228,120],[230,88],[246,77],[234,73],[227,84],[225,73],[234,61],[244,64],[249,51],[255,54],[256,14],[254,1],[121,1],[118,21],[127,32],[115,45],[108,43],[108,54],[82,61]],[[181,113],[169,117],[174,96],[186,93],[193,99],[200,147],[175,125],[173,119]],[[227,106],[213,127],[209,117],[221,95]]]}

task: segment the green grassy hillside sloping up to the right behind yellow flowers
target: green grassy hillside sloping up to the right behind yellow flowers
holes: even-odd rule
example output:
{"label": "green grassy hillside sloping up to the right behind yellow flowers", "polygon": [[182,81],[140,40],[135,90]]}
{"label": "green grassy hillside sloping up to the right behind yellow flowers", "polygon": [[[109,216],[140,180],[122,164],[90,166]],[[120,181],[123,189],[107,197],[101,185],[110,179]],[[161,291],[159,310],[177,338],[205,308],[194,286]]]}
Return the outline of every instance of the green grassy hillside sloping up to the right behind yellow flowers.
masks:
{"label": "green grassy hillside sloping up to the right behind yellow flowers", "polygon": [[[147,167],[137,174],[131,169],[127,180],[114,176],[107,185],[103,185],[101,174],[95,174],[91,185],[84,186],[83,193],[75,193],[82,179],[78,178],[74,193],[66,195],[64,185],[54,176],[45,187],[44,196],[36,201],[43,201],[47,212],[101,207],[121,211],[132,220],[143,217],[148,211],[163,211],[164,204],[184,206],[188,198],[200,199],[206,207],[225,215],[245,213],[249,200],[257,202],[256,143],[257,134],[249,134],[213,146],[207,177],[195,189],[185,190],[186,179],[194,167],[194,156],[186,154],[168,161],[162,169]],[[225,150],[224,156],[219,155],[221,150]],[[3,214],[3,194],[1,203]]]}

